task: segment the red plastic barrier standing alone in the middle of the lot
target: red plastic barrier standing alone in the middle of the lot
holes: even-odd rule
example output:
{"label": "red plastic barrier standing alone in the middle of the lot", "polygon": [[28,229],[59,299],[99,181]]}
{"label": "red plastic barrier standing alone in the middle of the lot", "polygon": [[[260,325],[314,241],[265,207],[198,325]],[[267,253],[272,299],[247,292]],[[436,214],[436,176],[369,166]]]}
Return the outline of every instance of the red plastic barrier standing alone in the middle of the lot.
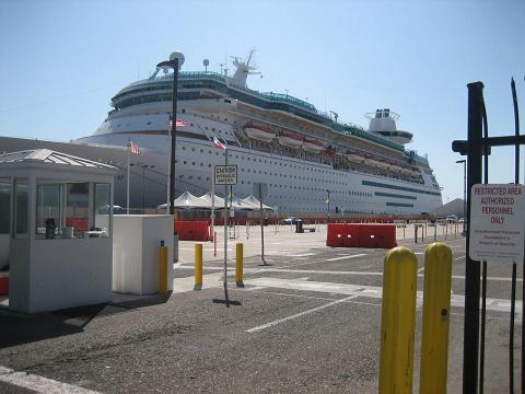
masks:
{"label": "red plastic barrier standing alone in the middle of the lot", "polygon": [[328,224],[326,246],[375,247],[397,246],[394,224]]}

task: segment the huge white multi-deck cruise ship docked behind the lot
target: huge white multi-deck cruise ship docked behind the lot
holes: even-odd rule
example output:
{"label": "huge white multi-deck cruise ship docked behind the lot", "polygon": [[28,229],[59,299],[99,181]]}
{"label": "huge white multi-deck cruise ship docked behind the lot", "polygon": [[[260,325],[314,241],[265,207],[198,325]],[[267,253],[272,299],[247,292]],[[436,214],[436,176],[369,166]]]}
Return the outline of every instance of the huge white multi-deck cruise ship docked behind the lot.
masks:
{"label": "huge white multi-deck cruise ship docked behind the lot", "polygon": [[[397,129],[396,113],[366,114],[364,129],[288,93],[252,90],[252,59],[253,51],[246,60],[233,58],[232,76],[179,72],[176,196],[210,192],[213,167],[228,154],[238,169],[234,195],[246,197],[256,184],[266,185],[264,202],[281,215],[307,217],[328,208],[332,215],[421,215],[442,205],[428,159],[405,148],[412,134]],[[167,200],[173,78],[156,69],[121,89],[92,136],[70,142],[0,137],[0,151],[49,148],[113,164],[120,170],[115,204],[125,206],[131,141],[140,154],[131,154],[130,207],[154,208]],[[218,149],[217,141],[228,149]]]}

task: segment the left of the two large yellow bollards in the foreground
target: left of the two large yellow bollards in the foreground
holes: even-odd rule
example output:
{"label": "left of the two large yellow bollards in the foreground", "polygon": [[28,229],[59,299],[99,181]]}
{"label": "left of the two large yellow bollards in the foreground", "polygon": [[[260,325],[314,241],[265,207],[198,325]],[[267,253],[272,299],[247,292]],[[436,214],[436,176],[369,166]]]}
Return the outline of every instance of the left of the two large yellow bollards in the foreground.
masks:
{"label": "left of the two large yellow bollards in the foreground", "polygon": [[381,313],[380,394],[411,393],[418,260],[404,246],[386,253]]}

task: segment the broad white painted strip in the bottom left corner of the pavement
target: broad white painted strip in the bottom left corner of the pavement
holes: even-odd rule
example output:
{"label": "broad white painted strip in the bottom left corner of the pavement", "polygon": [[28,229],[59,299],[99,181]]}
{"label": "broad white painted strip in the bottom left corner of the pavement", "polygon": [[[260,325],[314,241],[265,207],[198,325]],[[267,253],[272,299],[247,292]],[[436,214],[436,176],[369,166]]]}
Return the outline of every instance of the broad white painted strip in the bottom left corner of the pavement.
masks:
{"label": "broad white painted strip in the bottom left corner of the pavement", "polygon": [[58,382],[26,372],[16,372],[0,366],[0,382],[9,383],[18,387],[27,389],[36,393],[46,394],[100,394],[98,392],[82,389],[72,384]]}

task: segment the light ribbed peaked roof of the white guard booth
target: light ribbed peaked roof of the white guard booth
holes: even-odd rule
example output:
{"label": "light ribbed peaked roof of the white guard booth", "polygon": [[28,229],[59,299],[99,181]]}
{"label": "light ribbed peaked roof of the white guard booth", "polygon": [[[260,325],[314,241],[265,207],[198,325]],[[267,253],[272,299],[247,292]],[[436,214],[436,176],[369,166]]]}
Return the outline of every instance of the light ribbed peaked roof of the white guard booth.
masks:
{"label": "light ribbed peaked roof of the white guard booth", "polygon": [[73,157],[71,154],[51,151],[49,149],[34,149],[0,154],[0,164],[24,162],[52,163],[92,169],[116,169],[109,164],[98,163],[92,160]]}

